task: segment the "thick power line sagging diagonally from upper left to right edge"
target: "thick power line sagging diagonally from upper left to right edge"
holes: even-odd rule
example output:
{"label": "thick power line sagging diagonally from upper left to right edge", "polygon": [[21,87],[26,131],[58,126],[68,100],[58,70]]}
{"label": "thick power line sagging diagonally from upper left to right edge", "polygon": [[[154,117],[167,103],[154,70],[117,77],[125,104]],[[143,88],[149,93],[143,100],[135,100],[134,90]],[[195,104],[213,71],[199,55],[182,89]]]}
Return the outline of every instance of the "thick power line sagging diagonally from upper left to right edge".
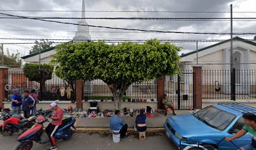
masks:
{"label": "thick power line sagging diagonally from upper left to right edge", "polygon": [[[46,21],[46,22],[55,22],[60,24],[72,24],[75,26],[88,26],[88,27],[99,27],[99,28],[105,28],[105,29],[120,29],[120,30],[126,30],[126,31],[141,31],[141,32],[166,32],[166,33],[176,33],[176,34],[212,34],[212,35],[229,35],[230,33],[216,33],[216,32],[181,32],[181,31],[159,31],[159,30],[144,30],[144,29],[128,29],[124,27],[109,27],[109,26],[94,26],[94,25],[88,25],[88,24],[77,24],[72,22],[61,22],[61,21],[51,21],[46,19],[34,19],[24,16],[16,16],[13,14],[6,14],[0,12],[0,14],[6,15],[6,16],[12,16],[12,17],[23,17],[24,19],[33,19],[38,21]],[[233,33],[237,35],[255,35],[256,33],[247,32],[247,33]]]}

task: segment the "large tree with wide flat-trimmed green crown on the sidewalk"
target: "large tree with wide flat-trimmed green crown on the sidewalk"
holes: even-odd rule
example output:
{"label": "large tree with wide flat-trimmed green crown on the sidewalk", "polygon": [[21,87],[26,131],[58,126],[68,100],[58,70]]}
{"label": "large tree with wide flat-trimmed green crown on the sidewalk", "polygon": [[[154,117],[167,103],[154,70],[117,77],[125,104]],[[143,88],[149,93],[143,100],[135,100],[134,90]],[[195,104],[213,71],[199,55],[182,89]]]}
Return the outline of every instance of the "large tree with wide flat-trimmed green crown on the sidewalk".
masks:
{"label": "large tree with wide flat-trimmed green crown on the sidewalk", "polygon": [[62,79],[101,79],[108,86],[115,100],[115,109],[132,83],[149,81],[179,72],[181,47],[157,39],[144,44],[122,42],[66,43],[56,46],[52,62]]}

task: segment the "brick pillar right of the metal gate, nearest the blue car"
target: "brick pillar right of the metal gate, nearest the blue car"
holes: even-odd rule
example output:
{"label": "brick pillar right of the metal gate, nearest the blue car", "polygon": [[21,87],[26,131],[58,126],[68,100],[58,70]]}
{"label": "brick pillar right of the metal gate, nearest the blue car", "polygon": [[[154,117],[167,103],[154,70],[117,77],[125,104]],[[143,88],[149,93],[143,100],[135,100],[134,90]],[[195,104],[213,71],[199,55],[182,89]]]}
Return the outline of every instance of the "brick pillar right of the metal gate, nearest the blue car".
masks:
{"label": "brick pillar right of the metal gate, nearest the blue car", "polygon": [[193,107],[202,109],[202,66],[193,66]]}

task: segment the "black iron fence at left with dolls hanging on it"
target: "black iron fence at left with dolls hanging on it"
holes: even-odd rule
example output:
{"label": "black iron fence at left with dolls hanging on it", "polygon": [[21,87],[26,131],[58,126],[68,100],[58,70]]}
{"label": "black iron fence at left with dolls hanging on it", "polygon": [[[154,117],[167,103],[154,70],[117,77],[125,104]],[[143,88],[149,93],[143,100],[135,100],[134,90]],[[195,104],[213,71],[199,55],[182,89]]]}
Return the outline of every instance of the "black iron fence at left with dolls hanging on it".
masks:
{"label": "black iron fence at left with dolls hanging on it", "polygon": [[40,88],[40,82],[29,81],[21,69],[16,70],[18,71],[9,71],[8,73],[9,81],[4,87],[8,95],[7,100],[11,98],[14,90],[18,90],[22,94],[26,90],[35,89],[40,101],[75,101],[74,83],[67,83],[53,74],[51,79],[46,80],[44,86]]}

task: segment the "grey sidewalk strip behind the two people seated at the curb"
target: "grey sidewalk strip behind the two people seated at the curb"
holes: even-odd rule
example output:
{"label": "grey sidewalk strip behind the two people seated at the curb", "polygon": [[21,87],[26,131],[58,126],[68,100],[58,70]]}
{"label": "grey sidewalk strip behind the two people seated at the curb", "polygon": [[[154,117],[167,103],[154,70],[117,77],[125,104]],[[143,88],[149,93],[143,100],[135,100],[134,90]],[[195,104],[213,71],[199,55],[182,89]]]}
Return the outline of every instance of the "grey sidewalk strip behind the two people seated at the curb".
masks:
{"label": "grey sidewalk strip behind the two people seated at the curb", "polygon": [[[189,110],[180,110],[175,111],[176,114],[189,114]],[[163,113],[158,114],[154,113],[154,118],[147,118],[146,124],[147,128],[163,128],[166,118],[173,116],[169,114],[168,116],[164,116]],[[134,117],[121,117],[126,124],[128,124],[129,128],[133,128],[135,126]],[[77,118],[77,128],[109,128],[110,118]]]}

